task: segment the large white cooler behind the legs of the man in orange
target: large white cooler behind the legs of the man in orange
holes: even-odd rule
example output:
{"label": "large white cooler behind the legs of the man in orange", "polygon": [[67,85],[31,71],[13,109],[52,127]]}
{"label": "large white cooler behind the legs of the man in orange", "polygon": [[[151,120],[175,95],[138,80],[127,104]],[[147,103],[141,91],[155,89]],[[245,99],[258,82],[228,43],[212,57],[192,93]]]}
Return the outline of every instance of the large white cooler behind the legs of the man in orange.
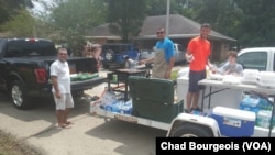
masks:
{"label": "large white cooler behind the legs of the man in orange", "polygon": [[[182,76],[177,78],[177,97],[178,99],[184,99],[185,103],[184,107],[186,108],[186,95],[188,92],[188,85],[189,79],[187,76]],[[212,92],[220,90],[221,88],[212,87]],[[206,87],[205,95],[208,95],[210,91],[209,87]],[[217,92],[211,96],[211,104],[210,108],[216,106],[223,106],[229,108],[237,108],[239,109],[239,104],[242,100],[242,90],[234,90],[234,89],[226,89],[220,92]],[[201,96],[202,91],[200,92],[199,97],[199,107],[201,107]],[[204,108],[208,108],[208,99],[204,100]]]}

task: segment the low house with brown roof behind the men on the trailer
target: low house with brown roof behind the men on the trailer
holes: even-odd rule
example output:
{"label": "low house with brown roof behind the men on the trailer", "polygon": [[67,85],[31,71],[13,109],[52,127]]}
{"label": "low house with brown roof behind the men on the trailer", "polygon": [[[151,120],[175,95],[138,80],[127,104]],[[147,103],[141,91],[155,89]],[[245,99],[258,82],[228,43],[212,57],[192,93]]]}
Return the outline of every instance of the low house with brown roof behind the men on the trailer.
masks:
{"label": "low house with brown roof behind the men on the trailer", "polygon": [[[99,44],[120,42],[121,37],[110,33],[108,25],[109,24],[103,24],[96,27],[86,37]],[[157,27],[165,27],[165,25],[166,15],[147,16],[143,23],[140,35],[133,40],[134,43],[142,49],[152,49],[157,41],[155,34]],[[169,30],[167,32],[169,38],[175,43],[187,47],[189,40],[199,35],[200,24],[179,14],[170,14]],[[237,40],[212,30],[209,35],[209,41],[212,45],[211,60],[221,62],[226,59],[226,53],[229,51],[230,44],[234,43]]]}

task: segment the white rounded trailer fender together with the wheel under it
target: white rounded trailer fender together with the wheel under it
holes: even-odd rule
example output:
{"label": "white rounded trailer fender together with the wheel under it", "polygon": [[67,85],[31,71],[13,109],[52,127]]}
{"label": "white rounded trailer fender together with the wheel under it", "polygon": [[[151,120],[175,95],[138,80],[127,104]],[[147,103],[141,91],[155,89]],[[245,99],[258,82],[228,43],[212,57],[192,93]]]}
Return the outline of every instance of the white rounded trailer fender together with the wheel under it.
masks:
{"label": "white rounded trailer fender together with the wheel under it", "polygon": [[190,113],[178,114],[170,124],[166,136],[220,136],[217,121],[212,118]]}

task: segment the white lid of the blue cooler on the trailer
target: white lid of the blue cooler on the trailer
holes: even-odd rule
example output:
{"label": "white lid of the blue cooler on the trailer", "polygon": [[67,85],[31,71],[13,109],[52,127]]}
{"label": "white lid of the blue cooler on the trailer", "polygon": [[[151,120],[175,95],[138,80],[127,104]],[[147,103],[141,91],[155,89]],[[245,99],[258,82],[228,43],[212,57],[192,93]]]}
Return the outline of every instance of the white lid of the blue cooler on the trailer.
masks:
{"label": "white lid of the blue cooler on the trailer", "polygon": [[255,112],[240,110],[240,109],[226,108],[226,107],[215,107],[212,110],[212,113],[216,115],[237,118],[237,119],[246,120],[246,121],[256,120]]}

